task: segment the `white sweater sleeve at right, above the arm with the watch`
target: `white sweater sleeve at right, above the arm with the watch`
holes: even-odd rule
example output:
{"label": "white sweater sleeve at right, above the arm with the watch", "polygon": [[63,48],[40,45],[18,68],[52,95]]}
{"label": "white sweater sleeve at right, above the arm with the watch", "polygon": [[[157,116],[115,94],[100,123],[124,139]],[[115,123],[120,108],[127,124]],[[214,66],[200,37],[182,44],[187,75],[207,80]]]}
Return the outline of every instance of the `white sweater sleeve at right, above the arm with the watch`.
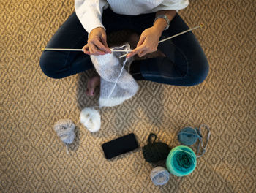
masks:
{"label": "white sweater sleeve at right, above the arm with the watch", "polygon": [[189,5],[189,0],[165,0],[159,6],[155,7],[152,11],[158,12],[161,10],[182,10]]}

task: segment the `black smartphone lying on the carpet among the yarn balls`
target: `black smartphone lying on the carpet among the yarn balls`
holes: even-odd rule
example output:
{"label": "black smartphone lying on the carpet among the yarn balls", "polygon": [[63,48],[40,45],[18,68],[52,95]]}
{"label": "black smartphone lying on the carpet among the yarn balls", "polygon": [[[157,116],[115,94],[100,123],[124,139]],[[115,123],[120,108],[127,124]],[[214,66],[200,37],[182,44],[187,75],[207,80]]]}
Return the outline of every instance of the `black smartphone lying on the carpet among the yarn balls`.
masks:
{"label": "black smartphone lying on the carpet among the yarn balls", "polygon": [[138,148],[138,143],[133,133],[102,144],[102,149],[106,159],[111,159],[120,154],[125,154],[129,151],[135,150],[136,148]]}

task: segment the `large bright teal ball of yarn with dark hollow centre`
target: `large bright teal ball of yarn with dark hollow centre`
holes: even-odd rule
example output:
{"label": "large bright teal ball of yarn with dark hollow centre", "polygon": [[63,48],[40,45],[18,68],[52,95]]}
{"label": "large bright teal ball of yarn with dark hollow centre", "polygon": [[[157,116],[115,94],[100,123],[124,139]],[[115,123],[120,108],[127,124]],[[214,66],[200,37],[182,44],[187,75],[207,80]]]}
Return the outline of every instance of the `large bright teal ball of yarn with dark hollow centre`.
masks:
{"label": "large bright teal ball of yarn with dark hollow centre", "polygon": [[166,167],[176,176],[189,175],[195,170],[197,159],[191,148],[180,145],[173,148],[166,159]]}

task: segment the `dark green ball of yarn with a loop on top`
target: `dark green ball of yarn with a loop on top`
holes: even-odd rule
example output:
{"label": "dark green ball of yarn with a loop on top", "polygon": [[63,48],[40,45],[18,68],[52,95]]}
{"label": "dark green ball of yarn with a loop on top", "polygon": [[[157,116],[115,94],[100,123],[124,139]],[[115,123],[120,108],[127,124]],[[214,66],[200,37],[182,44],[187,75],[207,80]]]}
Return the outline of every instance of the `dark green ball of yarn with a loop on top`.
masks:
{"label": "dark green ball of yarn with a loop on top", "polygon": [[[155,137],[154,142],[151,142],[151,137]],[[155,163],[166,159],[170,153],[170,148],[166,143],[157,142],[157,135],[151,133],[148,137],[148,145],[142,148],[143,156],[147,162]]]}

